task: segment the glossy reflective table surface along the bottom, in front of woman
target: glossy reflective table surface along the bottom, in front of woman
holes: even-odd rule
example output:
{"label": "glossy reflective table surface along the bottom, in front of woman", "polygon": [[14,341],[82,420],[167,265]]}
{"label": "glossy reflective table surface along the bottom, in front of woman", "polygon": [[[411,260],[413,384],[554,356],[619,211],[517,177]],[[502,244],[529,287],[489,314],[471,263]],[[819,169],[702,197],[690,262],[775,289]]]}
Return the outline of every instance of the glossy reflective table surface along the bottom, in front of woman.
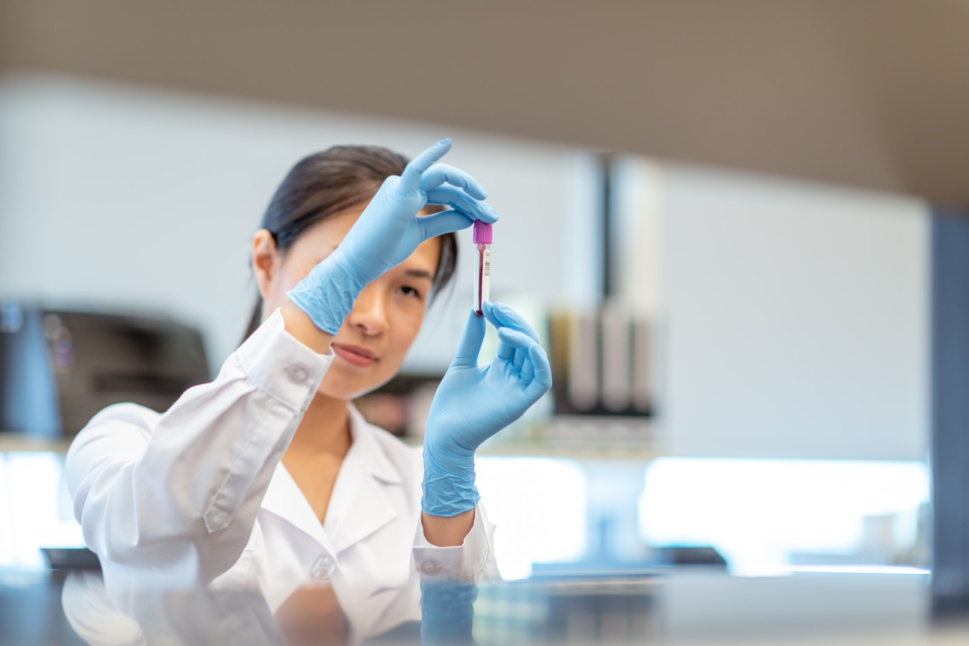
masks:
{"label": "glossy reflective table surface along the bottom, in front of woman", "polygon": [[924,575],[671,569],[477,586],[425,577],[420,608],[382,599],[386,616],[374,617],[328,587],[300,588],[270,609],[258,591],[0,570],[0,644],[969,643],[969,624],[932,619],[928,600]]}

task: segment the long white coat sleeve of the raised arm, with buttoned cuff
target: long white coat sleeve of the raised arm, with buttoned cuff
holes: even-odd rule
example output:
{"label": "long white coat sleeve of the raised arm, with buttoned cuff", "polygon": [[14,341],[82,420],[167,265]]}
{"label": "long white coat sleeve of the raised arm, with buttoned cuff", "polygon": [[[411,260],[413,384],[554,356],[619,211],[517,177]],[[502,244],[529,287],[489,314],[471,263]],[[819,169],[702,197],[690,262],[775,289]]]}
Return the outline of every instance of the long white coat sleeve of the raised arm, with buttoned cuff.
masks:
{"label": "long white coat sleeve of the raised arm, with buttoned cuff", "polygon": [[277,310],[210,384],[164,415],[105,409],[68,450],[66,476],[87,545],[146,584],[207,584],[232,568],[333,355],[285,329]]}

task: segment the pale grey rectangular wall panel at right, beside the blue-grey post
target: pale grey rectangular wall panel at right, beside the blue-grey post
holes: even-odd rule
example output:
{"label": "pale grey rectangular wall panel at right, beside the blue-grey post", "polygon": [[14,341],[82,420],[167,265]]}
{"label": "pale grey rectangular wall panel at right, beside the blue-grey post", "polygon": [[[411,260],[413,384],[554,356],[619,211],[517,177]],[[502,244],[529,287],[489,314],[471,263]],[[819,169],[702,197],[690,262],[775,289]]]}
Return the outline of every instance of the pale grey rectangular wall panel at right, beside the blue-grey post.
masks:
{"label": "pale grey rectangular wall panel at right, beside the blue-grey post", "polygon": [[659,184],[672,454],[923,459],[926,208],[675,166]]}

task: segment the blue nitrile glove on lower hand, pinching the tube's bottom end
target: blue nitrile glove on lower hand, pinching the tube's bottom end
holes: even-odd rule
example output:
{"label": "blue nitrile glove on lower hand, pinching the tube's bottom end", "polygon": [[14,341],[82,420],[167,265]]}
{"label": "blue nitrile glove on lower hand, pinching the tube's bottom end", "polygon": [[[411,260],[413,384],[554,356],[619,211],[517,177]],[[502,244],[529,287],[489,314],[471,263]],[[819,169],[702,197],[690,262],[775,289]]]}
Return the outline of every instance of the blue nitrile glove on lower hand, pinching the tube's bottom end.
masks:
{"label": "blue nitrile glove on lower hand, pinching the tube's bottom end", "polygon": [[478,504],[475,450],[551,387],[548,357],[531,325],[501,303],[485,302],[484,313],[498,329],[498,353],[478,365],[485,319],[472,309],[427,415],[421,507],[435,516],[453,516]]}

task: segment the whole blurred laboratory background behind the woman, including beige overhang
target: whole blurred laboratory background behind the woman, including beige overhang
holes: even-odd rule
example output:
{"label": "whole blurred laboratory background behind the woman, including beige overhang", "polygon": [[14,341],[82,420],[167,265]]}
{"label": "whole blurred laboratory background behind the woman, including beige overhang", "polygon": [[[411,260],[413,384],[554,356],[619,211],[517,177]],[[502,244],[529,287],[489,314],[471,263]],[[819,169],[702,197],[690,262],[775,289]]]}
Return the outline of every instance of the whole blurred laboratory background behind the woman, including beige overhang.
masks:
{"label": "whole blurred laboratory background behind the woman, including beige overhang", "polygon": [[[969,251],[969,5],[418,4],[0,4],[0,567],[82,546],[90,415],[238,346],[298,159],[447,136],[554,371],[480,453],[504,578],[929,572],[933,438],[965,466],[969,279],[938,271]],[[473,249],[358,402],[415,445]]]}

